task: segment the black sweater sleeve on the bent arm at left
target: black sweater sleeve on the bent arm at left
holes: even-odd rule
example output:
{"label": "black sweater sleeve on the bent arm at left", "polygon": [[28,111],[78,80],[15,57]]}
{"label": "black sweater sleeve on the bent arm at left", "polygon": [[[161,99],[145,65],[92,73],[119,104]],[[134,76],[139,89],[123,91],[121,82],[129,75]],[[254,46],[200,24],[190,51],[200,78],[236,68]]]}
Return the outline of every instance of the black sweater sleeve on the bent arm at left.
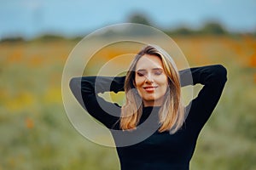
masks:
{"label": "black sweater sleeve on the bent arm at left", "polygon": [[102,99],[99,93],[124,91],[125,77],[74,77],[69,86],[79,104],[106,127],[119,121],[120,107]]}

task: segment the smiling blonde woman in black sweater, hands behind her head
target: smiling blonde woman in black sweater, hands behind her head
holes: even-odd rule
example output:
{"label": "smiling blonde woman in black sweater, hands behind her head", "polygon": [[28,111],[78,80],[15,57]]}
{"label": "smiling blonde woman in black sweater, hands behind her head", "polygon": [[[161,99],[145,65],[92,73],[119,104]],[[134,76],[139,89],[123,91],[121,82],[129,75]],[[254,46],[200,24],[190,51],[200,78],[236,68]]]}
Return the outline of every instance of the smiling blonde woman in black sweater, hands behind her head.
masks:
{"label": "smiling blonde woman in black sweater, hands behind her head", "polygon": [[[122,170],[188,170],[198,135],[222,94],[226,74],[222,65],[177,71],[164,50],[148,45],[133,59],[126,77],[76,77],[70,88],[84,109],[106,127],[124,133],[155,131],[142,142],[117,147]],[[184,107],[181,87],[197,83],[204,87]],[[125,91],[125,105],[117,106],[97,95],[106,91]],[[153,119],[147,124],[150,116]],[[140,128],[145,122],[146,128]],[[140,134],[133,137],[140,138]],[[116,135],[113,139],[119,142]]]}

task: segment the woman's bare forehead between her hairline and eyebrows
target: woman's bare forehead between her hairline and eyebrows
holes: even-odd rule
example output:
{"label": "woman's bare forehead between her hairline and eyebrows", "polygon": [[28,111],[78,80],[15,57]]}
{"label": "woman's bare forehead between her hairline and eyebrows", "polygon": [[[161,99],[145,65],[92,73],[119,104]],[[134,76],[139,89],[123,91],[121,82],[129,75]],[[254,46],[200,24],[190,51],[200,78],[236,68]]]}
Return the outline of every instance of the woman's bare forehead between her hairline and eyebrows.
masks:
{"label": "woman's bare forehead between her hairline and eyebrows", "polygon": [[162,61],[160,57],[156,55],[144,54],[138,61],[136,65],[137,70],[150,70],[154,68],[163,68]]}

